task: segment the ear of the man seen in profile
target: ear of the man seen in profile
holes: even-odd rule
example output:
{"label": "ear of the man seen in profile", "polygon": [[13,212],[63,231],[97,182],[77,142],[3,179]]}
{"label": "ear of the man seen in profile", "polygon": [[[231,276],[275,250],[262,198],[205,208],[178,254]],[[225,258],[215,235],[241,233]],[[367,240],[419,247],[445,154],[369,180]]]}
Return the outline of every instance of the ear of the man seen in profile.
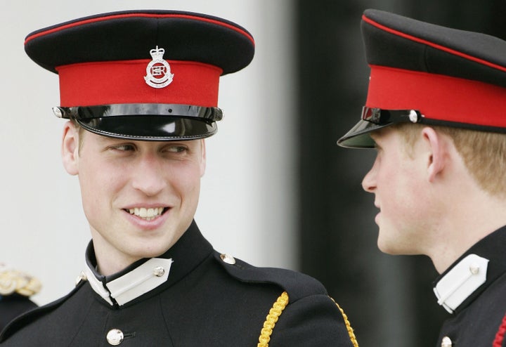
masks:
{"label": "ear of the man seen in profile", "polygon": [[427,174],[429,182],[434,182],[446,166],[448,158],[448,139],[434,129],[425,127],[422,129],[422,138],[427,146]]}

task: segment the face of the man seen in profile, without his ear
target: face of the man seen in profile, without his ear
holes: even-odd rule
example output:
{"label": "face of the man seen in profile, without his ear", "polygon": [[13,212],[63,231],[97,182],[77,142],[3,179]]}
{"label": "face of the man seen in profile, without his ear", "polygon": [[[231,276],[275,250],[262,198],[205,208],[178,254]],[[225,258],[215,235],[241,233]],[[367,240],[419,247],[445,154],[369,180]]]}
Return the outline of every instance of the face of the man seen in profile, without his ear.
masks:
{"label": "face of the man seen in profile, without his ear", "polygon": [[429,228],[427,161],[420,141],[408,155],[406,143],[390,127],[371,136],[377,145],[375,162],[362,181],[363,189],[375,195],[380,209],[375,222],[380,233],[378,247],[389,254],[423,254]]}

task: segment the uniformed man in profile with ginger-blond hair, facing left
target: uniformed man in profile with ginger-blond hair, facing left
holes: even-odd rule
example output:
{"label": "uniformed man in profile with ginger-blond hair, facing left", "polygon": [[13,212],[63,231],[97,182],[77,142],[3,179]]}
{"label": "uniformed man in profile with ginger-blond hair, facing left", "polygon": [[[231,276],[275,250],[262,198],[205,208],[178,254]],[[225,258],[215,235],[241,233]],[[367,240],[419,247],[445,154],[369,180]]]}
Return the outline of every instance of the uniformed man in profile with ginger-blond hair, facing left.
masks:
{"label": "uniformed man in profile with ginger-blond hair, facing left", "polygon": [[337,143],[377,150],[378,247],[441,273],[438,346],[506,346],[506,42],[375,10],[361,28],[368,98]]}

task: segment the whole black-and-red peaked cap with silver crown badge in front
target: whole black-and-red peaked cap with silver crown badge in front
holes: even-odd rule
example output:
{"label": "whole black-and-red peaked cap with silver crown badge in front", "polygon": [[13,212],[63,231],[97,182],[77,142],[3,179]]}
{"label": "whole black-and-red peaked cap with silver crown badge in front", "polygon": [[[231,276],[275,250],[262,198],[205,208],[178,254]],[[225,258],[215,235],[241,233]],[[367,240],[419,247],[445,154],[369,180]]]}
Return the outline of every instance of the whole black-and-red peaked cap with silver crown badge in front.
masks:
{"label": "whole black-and-red peaked cap with silver crown badge in front", "polygon": [[216,132],[219,77],[251,62],[254,39],[211,15],[121,11],[32,32],[25,51],[59,75],[58,117],[105,136],[178,140]]}

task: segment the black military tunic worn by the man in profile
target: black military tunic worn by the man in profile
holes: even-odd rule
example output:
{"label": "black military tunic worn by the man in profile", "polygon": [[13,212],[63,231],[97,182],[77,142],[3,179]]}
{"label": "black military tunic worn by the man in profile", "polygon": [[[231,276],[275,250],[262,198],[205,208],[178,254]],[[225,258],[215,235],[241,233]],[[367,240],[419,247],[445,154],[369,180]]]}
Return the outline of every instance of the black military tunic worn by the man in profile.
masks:
{"label": "black military tunic worn by the man in profile", "polygon": [[[493,346],[506,314],[505,245],[506,226],[474,244],[436,280],[436,284],[440,283],[451,275],[453,269],[460,266],[461,271],[456,271],[453,287],[450,288],[445,302],[451,301],[455,295],[462,295],[463,301],[455,308],[447,307],[448,310],[453,310],[453,317],[450,317],[441,328],[437,346]],[[462,266],[469,256],[476,257],[469,266]],[[481,264],[480,259],[483,261]],[[466,289],[467,284],[480,273],[484,276],[484,282],[477,288],[474,287],[478,284],[471,284]],[[458,294],[461,288],[464,288],[463,292]],[[506,343],[502,341],[498,346],[506,346]]]}

